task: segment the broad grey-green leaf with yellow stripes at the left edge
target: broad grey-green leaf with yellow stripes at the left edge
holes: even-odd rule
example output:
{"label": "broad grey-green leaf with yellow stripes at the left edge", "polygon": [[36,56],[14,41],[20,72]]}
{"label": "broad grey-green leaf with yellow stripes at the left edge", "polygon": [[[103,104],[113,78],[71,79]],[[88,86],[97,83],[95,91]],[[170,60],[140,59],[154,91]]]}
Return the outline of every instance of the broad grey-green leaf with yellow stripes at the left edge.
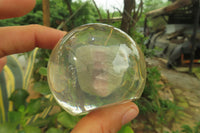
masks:
{"label": "broad grey-green leaf with yellow stripes at the left edge", "polygon": [[13,104],[8,98],[16,88],[23,87],[23,72],[14,56],[7,57],[7,64],[0,73],[0,123],[7,120],[8,110],[12,111]]}

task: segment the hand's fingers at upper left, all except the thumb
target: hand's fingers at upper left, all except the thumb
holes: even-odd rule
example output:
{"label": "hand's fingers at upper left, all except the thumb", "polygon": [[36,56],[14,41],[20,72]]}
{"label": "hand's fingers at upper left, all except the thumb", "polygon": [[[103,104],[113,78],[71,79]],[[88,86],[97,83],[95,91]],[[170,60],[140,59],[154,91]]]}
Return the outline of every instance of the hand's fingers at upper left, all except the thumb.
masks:
{"label": "hand's fingers at upper left, all except the thumb", "polygon": [[[35,0],[0,0],[0,18],[25,15],[34,5]],[[65,34],[66,32],[40,25],[1,27],[0,72],[6,63],[5,56],[27,52],[35,47],[52,49]]]}

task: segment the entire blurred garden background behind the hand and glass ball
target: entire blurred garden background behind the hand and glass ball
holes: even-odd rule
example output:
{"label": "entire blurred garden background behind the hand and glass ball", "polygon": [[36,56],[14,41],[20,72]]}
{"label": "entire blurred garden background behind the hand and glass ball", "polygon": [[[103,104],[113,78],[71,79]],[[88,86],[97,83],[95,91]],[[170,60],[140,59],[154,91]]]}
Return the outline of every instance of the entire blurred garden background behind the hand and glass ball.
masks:
{"label": "entire blurred garden background behind the hand and glass ball", "polygon": [[[199,8],[199,0],[37,0],[30,13],[0,26],[120,28],[142,49],[147,80],[134,101],[139,116],[119,133],[200,133]],[[83,117],[62,110],[50,94],[50,53],[36,48],[8,57],[0,73],[0,133],[68,133]]]}

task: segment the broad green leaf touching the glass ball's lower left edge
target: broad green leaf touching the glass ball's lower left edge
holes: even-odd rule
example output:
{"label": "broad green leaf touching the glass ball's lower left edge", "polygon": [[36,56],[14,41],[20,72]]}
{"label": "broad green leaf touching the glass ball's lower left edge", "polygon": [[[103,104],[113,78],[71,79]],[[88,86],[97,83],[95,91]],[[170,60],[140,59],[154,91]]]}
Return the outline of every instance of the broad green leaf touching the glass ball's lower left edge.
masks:
{"label": "broad green leaf touching the glass ball's lower left edge", "polygon": [[39,92],[42,95],[48,95],[51,93],[46,81],[35,82],[34,91]]}

